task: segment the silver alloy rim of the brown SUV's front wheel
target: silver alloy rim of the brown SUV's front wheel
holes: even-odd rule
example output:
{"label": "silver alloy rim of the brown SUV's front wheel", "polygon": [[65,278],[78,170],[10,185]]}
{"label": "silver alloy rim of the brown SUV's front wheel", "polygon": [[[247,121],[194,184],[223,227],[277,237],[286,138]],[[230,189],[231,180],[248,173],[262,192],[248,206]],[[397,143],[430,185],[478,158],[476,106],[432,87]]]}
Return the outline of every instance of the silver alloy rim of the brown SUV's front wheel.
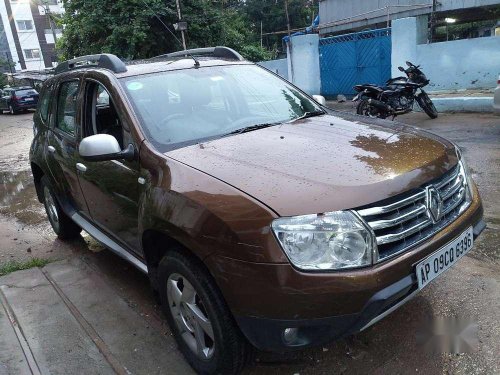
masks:
{"label": "silver alloy rim of the brown SUV's front wheel", "polygon": [[212,358],[215,352],[212,323],[193,285],[184,276],[174,273],[167,280],[167,298],[185,343],[199,359]]}

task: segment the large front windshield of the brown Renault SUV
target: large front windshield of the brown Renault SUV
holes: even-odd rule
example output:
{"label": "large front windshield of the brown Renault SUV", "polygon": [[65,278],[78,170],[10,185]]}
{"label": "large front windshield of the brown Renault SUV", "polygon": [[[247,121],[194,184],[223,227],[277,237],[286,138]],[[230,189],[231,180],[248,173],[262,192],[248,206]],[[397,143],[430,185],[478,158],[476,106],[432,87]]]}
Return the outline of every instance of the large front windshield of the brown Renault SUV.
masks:
{"label": "large front windshield of the brown Renault SUV", "polygon": [[297,89],[255,65],[147,74],[124,78],[122,85],[146,136],[162,152],[322,111]]}

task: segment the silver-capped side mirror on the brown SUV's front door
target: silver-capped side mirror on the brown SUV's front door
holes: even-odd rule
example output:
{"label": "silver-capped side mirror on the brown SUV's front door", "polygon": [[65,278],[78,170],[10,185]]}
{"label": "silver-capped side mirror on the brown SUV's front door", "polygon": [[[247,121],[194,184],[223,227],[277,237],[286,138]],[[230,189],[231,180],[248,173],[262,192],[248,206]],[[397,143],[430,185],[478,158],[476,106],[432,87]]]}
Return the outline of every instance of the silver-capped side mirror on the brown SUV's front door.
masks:
{"label": "silver-capped side mirror on the brown SUV's front door", "polygon": [[134,160],[135,158],[135,147],[132,144],[121,150],[116,138],[109,134],[96,134],[83,138],[78,152],[82,159],[88,161]]}

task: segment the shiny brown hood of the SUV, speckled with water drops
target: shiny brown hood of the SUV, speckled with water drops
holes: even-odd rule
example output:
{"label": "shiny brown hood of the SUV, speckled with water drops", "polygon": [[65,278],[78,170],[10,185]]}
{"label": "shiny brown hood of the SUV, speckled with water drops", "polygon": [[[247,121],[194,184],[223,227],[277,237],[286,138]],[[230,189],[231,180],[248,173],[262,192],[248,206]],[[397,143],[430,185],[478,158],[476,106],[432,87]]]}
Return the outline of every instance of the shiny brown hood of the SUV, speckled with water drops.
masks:
{"label": "shiny brown hood of the SUV, speckled with water drops", "polygon": [[280,216],[361,207],[421,186],[457,163],[454,146],[399,123],[338,113],[169,151],[166,156]]}

